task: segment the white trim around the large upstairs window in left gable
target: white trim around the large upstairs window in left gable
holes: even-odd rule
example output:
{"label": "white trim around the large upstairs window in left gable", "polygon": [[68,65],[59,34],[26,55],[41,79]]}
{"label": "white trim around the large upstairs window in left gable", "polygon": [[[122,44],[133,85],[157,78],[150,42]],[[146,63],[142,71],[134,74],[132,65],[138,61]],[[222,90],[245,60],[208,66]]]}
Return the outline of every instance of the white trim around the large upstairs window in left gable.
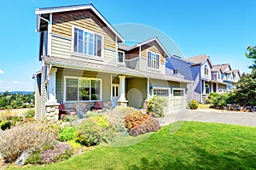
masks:
{"label": "white trim around the large upstairs window in left gable", "polygon": [[[82,30],[82,31],[86,31],[90,34],[94,34],[94,35],[97,35],[97,36],[101,36],[102,37],[102,56],[97,56],[97,55],[90,55],[90,54],[84,54],[84,53],[79,53],[79,52],[75,52],[74,49],[73,49],[73,43],[74,43],[74,29],[79,29],[79,30]],[[79,56],[89,56],[89,57],[93,57],[93,58],[99,58],[99,59],[102,59],[103,58],[103,54],[104,54],[104,36],[101,34],[101,33],[98,33],[98,32],[95,32],[95,31],[90,31],[90,30],[87,30],[87,29],[84,29],[80,26],[72,26],[72,48],[71,48],[71,52],[72,54],[77,54]]]}

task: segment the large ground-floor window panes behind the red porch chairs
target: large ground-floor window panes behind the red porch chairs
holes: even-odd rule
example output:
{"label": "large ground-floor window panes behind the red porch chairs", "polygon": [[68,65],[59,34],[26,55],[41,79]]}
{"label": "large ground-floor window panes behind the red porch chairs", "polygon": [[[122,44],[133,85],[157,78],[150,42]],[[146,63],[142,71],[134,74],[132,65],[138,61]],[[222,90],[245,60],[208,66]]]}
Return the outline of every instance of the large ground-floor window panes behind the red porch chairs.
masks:
{"label": "large ground-floor window panes behind the red porch chairs", "polygon": [[102,80],[91,78],[66,78],[66,100],[101,100]]}

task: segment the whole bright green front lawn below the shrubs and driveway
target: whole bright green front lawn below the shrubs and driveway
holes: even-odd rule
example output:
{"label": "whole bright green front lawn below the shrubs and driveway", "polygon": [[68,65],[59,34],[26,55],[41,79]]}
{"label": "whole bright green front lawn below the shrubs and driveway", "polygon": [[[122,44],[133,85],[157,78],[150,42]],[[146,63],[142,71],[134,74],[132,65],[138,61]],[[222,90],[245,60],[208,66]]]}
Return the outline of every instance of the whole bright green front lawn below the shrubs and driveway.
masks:
{"label": "whole bright green front lawn below the shrubs and driveway", "polygon": [[[180,124],[182,126],[177,133],[171,134],[172,128]],[[115,148],[97,146],[95,150],[67,161],[22,169],[255,168],[256,127],[176,122],[162,127],[138,144]]]}

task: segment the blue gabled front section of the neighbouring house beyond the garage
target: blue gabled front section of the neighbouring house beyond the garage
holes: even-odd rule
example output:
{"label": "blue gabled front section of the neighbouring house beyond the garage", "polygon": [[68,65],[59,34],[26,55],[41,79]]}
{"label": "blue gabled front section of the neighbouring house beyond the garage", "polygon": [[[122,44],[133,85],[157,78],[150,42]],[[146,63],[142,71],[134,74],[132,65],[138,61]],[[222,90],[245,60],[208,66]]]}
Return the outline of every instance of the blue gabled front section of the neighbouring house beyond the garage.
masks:
{"label": "blue gabled front section of the neighbouring house beyond the garage", "polygon": [[200,103],[206,103],[208,94],[226,89],[227,84],[221,81],[221,70],[212,65],[211,59],[202,54],[187,58],[193,77],[193,85],[189,87],[188,94]]}

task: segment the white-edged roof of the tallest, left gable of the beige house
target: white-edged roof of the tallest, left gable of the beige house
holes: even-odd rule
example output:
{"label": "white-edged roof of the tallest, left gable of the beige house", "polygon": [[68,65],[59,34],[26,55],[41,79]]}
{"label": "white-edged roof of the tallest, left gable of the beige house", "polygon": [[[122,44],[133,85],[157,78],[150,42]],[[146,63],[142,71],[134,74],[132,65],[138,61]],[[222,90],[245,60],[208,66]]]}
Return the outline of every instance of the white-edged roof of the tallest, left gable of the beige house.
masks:
{"label": "white-edged roof of the tallest, left gable of the beige house", "polygon": [[53,8],[36,8],[36,14],[37,14],[37,31],[39,31],[38,26],[40,26],[40,15],[41,14],[53,14],[53,13],[61,13],[61,12],[67,12],[67,11],[75,11],[75,10],[83,10],[83,9],[91,9],[108,28],[113,31],[113,33],[118,37],[119,42],[125,42],[124,37],[122,37],[118,31],[116,31],[113,26],[106,20],[103,15],[93,6],[93,4],[84,4],[84,5],[70,5],[70,6],[62,6],[62,7],[53,7]]}

